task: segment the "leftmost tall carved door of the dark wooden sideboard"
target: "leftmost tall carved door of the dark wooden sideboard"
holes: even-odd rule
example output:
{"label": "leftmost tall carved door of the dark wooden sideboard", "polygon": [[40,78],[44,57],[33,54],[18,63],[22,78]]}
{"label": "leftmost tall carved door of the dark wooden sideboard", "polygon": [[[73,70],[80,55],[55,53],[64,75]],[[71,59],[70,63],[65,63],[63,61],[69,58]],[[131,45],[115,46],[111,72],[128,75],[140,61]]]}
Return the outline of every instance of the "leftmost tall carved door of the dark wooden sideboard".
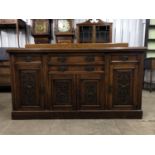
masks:
{"label": "leftmost tall carved door of the dark wooden sideboard", "polygon": [[16,65],[15,74],[16,110],[44,109],[41,65]]}

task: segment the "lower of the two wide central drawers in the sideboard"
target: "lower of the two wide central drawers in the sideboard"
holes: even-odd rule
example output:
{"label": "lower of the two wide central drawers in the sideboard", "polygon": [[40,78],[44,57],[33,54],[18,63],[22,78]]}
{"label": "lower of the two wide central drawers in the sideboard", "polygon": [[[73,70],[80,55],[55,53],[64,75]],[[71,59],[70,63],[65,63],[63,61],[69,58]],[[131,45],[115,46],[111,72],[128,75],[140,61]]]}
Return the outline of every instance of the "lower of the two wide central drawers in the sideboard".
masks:
{"label": "lower of the two wide central drawers in the sideboard", "polygon": [[65,72],[65,71],[86,71],[86,72],[94,72],[94,71],[104,71],[104,66],[101,65],[58,65],[58,66],[51,66],[49,67],[49,71],[58,71],[58,72]]}

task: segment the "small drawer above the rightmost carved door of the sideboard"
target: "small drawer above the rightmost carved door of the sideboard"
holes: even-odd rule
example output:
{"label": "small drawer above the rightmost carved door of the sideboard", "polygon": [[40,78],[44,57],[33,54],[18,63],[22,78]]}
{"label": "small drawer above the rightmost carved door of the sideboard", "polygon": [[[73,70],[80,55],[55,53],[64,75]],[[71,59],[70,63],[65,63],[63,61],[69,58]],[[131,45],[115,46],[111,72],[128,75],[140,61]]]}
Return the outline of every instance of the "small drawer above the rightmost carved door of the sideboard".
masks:
{"label": "small drawer above the rightmost carved door of the sideboard", "polygon": [[138,56],[137,55],[126,55],[126,54],[122,54],[122,55],[112,55],[111,56],[111,61],[112,62],[135,62],[138,61]]}

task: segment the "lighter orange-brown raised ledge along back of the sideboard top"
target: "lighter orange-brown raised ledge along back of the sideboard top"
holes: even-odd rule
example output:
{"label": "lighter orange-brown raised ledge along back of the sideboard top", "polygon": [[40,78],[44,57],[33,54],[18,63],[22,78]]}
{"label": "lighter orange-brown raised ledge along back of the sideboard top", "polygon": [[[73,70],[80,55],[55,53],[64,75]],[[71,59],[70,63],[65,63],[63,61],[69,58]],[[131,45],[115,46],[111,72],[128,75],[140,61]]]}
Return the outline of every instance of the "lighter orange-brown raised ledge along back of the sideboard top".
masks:
{"label": "lighter orange-brown raised ledge along back of the sideboard top", "polygon": [[108,48],[128,47],[128,43],[58,43],[58,44],[26,44],[25,48]]}

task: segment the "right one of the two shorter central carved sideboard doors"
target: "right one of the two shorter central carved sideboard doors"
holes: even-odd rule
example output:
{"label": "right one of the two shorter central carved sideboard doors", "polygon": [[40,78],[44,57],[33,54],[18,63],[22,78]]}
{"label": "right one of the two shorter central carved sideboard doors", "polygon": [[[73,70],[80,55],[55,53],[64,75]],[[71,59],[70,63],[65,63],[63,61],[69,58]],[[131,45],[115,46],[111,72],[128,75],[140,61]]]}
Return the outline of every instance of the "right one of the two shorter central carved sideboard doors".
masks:
{"label": "right one of the two shorter central carved sideboard doors", "polygon": [[104,74],[83,73],[78,75],[77,91],[79,110],[104,109]]}

